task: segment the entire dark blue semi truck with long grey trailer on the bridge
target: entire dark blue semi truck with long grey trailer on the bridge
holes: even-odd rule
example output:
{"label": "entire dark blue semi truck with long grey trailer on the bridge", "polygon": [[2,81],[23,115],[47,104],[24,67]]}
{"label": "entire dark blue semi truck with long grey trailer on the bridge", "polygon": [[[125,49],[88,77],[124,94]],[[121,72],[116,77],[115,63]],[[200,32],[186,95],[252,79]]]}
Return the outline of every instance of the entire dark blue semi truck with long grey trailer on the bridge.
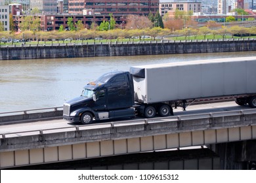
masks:
{"label": "entire dark blue semi truck with long grey trailer on the bridge", "polygon": [[70,122],[173,115],[195,101],[234,99],[256,108],[256,57],[134,66],[106,73],[63,106]]}

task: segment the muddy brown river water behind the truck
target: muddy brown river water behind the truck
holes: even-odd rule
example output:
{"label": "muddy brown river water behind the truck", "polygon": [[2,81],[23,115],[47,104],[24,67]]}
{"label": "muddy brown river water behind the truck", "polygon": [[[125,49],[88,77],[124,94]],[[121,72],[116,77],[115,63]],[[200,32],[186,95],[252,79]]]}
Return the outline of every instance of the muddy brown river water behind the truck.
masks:
{"label": "muddy brown river water behind the truck", "polygon": [[0,60],[0,112],[61,107],[88,82],[132,65],[256,56],[256,52]]}

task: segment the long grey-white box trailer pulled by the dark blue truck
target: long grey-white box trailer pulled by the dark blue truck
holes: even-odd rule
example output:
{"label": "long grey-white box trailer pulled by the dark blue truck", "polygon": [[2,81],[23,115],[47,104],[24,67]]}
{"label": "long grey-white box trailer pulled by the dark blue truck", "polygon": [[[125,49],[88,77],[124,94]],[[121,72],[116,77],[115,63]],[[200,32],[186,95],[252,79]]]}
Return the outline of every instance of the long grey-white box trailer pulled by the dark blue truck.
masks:
{"label": "long grey-white box trailer pulled by the dark blue truck", "polygon": [[[165,116],[164,111],[174,105],[185,110],[193,101],[225,98],[255,108],[255,69],[256,57],[244,57],[142,65],[131,67],[130,73],[135,101],[151,106],[140,110],[150,117],[156,112]],[[160,102],[167,105],[155,105]]]}

